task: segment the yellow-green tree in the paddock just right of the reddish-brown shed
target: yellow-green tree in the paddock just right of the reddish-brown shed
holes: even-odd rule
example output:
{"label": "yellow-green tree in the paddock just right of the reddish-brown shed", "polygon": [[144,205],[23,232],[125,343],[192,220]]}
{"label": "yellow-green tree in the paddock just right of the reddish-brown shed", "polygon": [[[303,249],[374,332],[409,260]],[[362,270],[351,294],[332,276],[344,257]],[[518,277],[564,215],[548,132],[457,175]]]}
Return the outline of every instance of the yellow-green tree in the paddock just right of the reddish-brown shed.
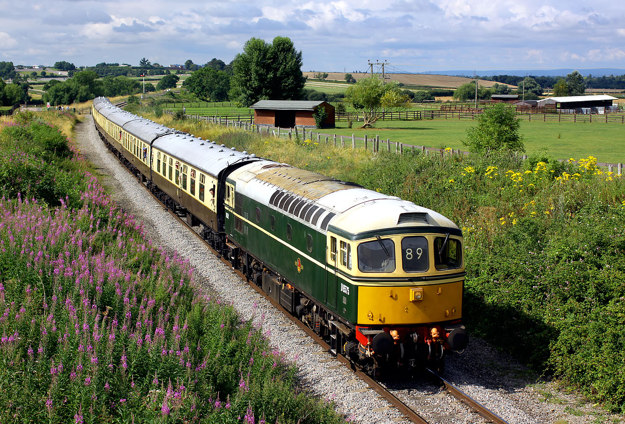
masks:
{"label": "yellow-green tree in the paddock just right of the reddish-brown shed", "polygon": [[384,84],[379,78],[363,78],[349,86],[345,101],[361,111],[362,128],[371,128],[381,118],[382,111],[396,111],[407,107],[408,97],[401,93],[395,81]]}

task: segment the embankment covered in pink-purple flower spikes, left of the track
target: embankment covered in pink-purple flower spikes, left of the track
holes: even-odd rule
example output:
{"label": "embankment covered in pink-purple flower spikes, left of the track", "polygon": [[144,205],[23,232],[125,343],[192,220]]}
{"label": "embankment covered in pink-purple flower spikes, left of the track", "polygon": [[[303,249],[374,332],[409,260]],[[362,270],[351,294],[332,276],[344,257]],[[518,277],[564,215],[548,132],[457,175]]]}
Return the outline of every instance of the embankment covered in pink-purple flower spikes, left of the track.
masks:
{"label": "embankment covered in pink-purple flower spikes, left of the track", "polygon": [[342,422],[111,202],[73,116],[30,118],[0,122],[1,422]]}

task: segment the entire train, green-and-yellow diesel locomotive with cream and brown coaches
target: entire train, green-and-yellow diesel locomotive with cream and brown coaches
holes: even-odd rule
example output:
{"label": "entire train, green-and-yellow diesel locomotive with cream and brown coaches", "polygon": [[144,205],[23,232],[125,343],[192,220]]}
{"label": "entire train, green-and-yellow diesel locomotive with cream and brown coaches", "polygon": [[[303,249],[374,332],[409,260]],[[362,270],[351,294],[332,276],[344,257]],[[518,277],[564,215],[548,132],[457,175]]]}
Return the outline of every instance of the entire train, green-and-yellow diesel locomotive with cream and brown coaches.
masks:
{"label": "entire train, green-and-yellow diesel locomotive with cream and brown coaches", "polygon": [[257,158],[94,100],[109,148],[277,303],[370,373],[440,370],[467,345],[462,233],[354,183]]}

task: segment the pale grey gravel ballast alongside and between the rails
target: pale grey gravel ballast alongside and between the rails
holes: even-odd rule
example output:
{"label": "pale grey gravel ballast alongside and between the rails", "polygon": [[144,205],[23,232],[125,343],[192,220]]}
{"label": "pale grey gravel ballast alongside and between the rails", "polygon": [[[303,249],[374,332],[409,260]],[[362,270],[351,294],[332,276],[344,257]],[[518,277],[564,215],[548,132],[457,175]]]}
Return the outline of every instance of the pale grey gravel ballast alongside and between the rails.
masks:
{"label": "pale grey gravel ballast alongside and between the rails", "polygon": [[[332,359],[288,318],[277,313],[269,302],[212,256],[191,231],[179,225],[156,203],[104,147],[91,116],[86,116],[84,122],[76,126],[76,143],[102,174],[100,180],[111,189],[114,200],[126,212],[144,221],[147,237],[187,258],[202,288],[231,301],[242,319],[262,325],[269,343],[283,351],[287,360],[297,363],[302,385],[307,390],[333,401],[338,411],[356,423],[407,422],[364,382],[357,380],[351,370]],[[464,354],[447,358],[445,376],[511,424],[625,423],[622,416],[607,415],[578,396],[561,393],[554,383],[537,383],[537,376],[473,338]],[[421,411],[432,423],[484,422],[426,381],[394,389],[396,396]]]}

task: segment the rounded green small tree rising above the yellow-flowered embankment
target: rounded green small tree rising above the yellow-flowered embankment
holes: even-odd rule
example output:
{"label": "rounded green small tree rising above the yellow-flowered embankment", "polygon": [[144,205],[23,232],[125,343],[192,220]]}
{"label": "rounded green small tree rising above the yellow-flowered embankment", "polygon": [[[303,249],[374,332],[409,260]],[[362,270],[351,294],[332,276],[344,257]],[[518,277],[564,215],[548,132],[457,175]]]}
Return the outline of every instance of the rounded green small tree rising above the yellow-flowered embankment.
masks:
{"label": "rounded green small tree rising above the yellow-flowered embankment", "polygon": [[486,156],[493,151],[525,151],[519,128],[521,119],[516,118],[514,109],[497,103],[477,116],[477,126],[467,129],[467,139],[463,143],[472,153]]}

